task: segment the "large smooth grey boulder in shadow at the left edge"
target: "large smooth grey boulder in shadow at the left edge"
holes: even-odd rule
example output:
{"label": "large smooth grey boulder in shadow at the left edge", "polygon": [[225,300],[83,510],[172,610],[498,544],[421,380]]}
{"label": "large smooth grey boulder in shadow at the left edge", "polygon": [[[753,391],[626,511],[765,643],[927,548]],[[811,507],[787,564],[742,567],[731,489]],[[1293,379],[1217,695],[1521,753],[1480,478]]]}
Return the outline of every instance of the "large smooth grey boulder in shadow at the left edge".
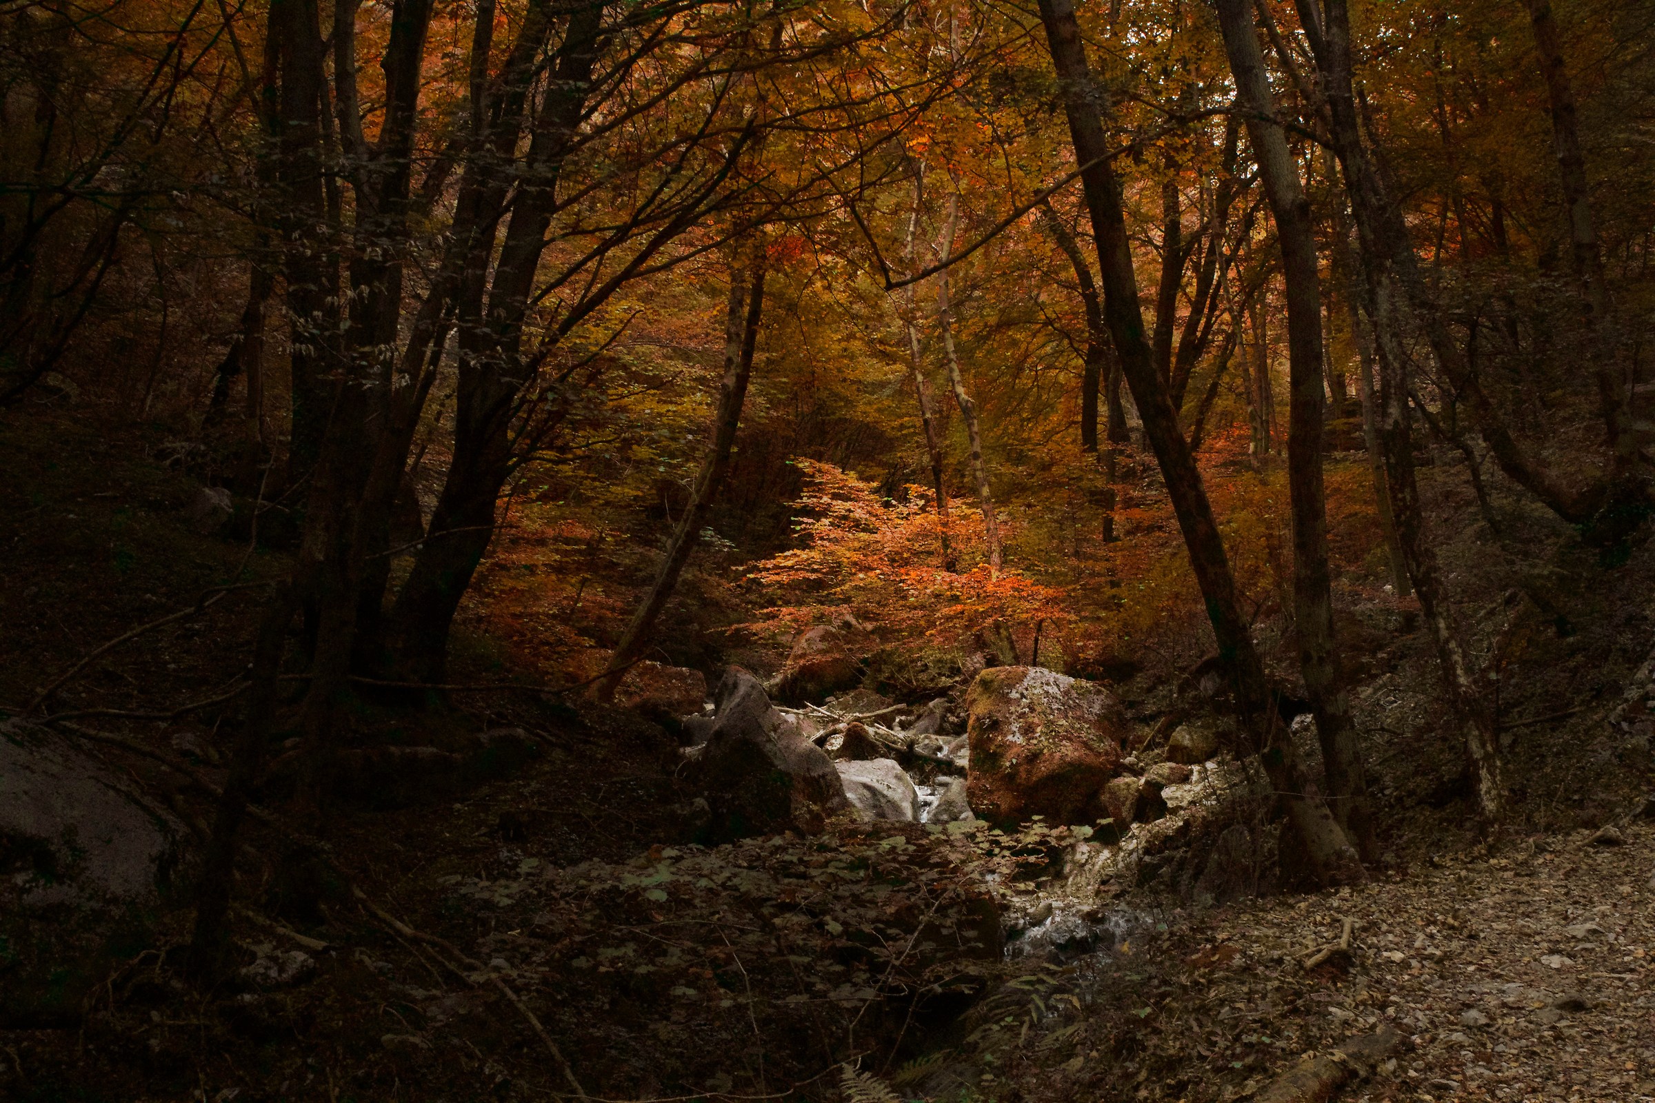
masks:
{"label": "large smooth grey boulder in shadow at the left edge", "polygon": [[73,1024],[182,888],[182,825],[63,736],[0,723],[0,1027]]}

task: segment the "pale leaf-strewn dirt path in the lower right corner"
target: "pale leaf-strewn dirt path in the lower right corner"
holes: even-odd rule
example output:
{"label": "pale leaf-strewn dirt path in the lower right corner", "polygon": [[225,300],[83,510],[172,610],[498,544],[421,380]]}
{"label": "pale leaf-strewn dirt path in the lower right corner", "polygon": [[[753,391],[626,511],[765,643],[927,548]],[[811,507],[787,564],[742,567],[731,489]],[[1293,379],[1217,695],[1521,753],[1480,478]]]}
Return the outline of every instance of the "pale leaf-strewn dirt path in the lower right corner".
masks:
{"label": "pale leaf-strewn dirt path in the lower right corner", "polygon": [[[1635,822],[1619,837],[1609,845],[1576,832],[1360,890],[1213,913],[1188,977],[1205,999],[1187,1025],[1210,1024],[1215,1040],[1228,1034],[1246,1048],[1263,1039],[1279,1072],[1390,1022],[1412,1048],[1347,1090],[1355,1100],[1652,1098],[1655,828]],[[1346,918],[1350,962],[1306,971]],[[1208,1063],[1230,1065],[1225,1057]],[[1213,1088],[1236,1098],[1266,1080]]]}

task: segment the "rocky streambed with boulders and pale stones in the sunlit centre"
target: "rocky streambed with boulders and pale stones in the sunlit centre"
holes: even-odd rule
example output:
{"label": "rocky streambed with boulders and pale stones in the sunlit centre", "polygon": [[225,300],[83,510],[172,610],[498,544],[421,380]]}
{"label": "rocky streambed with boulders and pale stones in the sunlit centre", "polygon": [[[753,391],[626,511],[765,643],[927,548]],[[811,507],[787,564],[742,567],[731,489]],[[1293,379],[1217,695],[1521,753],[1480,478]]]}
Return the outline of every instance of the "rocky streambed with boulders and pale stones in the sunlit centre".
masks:
{"label": "rocky streambed with boulders and pale stones in the sunlit centre", "polygon": [[1261,830],[1235,822],[1268,799],[1195,724],[1145,746],[1107,688],[1039,666],[981,671],[957,698],[890,701],[869,690],[796,708],[732,668],[687,718],[682,774],[703,789],[702,842],[819,830],[826,817],[910,824],[1074,825],[1089,832],[1046,876],[1005,886],[1006,954],[1058,961],[1115,949],[1152,913],[1125,886],[1228,900],[1259,881]]}

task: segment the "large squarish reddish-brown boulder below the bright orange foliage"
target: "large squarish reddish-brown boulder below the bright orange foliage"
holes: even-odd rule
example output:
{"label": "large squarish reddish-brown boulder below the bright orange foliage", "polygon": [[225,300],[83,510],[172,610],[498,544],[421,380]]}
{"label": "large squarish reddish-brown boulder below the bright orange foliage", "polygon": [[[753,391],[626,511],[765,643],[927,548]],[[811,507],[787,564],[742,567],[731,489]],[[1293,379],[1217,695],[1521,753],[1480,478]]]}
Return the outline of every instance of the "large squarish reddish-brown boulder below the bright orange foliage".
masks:
{"label": "large squarish reddish-brown boulder below the bright orange foliage", "polygon": [[990,666],[965,695],[971,809],[995,825],[1034,815],[1091,824],[1130,731],[1120,703],[1091,681],[1039,666]]}

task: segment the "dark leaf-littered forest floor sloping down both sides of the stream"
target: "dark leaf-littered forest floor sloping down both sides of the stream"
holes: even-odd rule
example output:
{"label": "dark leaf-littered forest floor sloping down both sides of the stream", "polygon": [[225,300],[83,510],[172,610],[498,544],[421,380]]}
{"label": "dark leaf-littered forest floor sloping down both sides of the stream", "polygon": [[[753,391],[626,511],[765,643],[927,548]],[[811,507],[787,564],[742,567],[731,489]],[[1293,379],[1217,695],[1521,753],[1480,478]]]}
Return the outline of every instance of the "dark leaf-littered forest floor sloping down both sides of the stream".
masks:
{"label": "dark leaf-littered forest floor sloping down both sides of the stream", "polygon": [[[99,642],[209,585],[280,569],[281,554],[250,556],[245,534],[192,532],[199,483],[170,460],[137,432],[33,415],[0,423],[12,475],[0,485],[7,711]],[[1448,485],[1435,511],[1440,526],[1470,514]],[[1529,521],[1508,519],[1521,541]],[[1607,723],[1655,643],[1655,556],[1638,549],[1614,585],[1594,582],[1589,564],[1552,561],[1549,577],[1572,579],[1561,587],[1569,630],[1529,617],[1509,632],[1511,572],[1478,572],[1493,557],[1486,541],[1473,523],[1450,528],[1445,562],[1476,610],[1473,633],[1511,655],[1503,709],[1518,799],[1498,840],[1480,837],[1456,781],[1428,640],[1390,607],[1352,604],[1347,615],[1367,625],[1354,696],[1387,845],[1370,885],[1261,885],[1261,896],[1205,905],[1172,873],[1144,876],[1109,890],[1104,944],[985,966],[968,992],[904,1009],[854,986],[814,994],[813,972],[846,967],[844,944],[794,941],[766,957],[743,938],[814,891],[798,870],[829,843],[859,862],[894,848],[899,862],[923,838],[684,847],[677,741],[636,714],[531,693],[422,708],[362,698],[353,738],[419,744],[520,728],[538,757],[440,800],[341,805],[329,863],[260,828],[238,890],[250,908],[242,957],[250,976],[283,962],[293,976],[194,994],[174,969],[187,939],[187,914],[174,913],[157,931],[174,949],[134,959],[81,1029],[0,1032],[0,1096],[832,1100],[846,1050],[824,1035],[846,1024],[874,1040],[851,1047],[871,1075],[902,1098],[950,1103],[1228,1103],[1268,1095],[1283,1073],[1385,1025],[1400,1045],[1341,1098],[1655,1096],[1648,746]],[[111,652],[56,695],[55,711],[209,696],[245,661],[255,610],[255,597],[232,592]],[[453,676],[553,680],[503,663],[506,650],[473,640]],[[79,723],[207,777],[220,771],[213,713]],[[98,754],[187,822],[210,819],[210,800],[177,772]],[[735,875],[720,880],[715,860]],[[657,883],[670,890],[664,901],[650,895]],[[1306,967],[1346,921],[1347,951]]]}

